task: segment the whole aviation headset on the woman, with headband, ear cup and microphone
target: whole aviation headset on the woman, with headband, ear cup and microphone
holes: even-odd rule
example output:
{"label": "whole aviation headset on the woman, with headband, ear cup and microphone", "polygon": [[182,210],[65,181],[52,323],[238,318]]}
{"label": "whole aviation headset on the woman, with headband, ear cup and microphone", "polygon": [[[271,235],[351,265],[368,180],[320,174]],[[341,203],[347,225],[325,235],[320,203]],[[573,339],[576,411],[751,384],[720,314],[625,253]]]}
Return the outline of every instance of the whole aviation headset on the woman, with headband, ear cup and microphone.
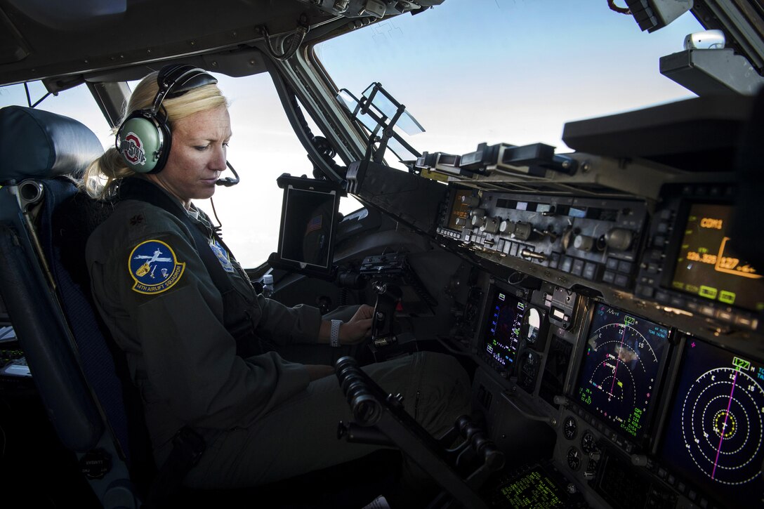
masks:
{"label": "whole aviation headset on the woman, with headband, ear cup and microphone", "polygon": [[[151,108],[132,112],[117,131],[115,147],[128,168],[136,173],[159,173],[162,170],[173,144],[170,125],[167,124],[167,110],[163,108],[162,102],[211,83],[218,83],[218,80],[199,67],[162,67],[157,75],[159,89]],[[231,167],[230,164],[228,167]],[[231,184],[222,182],[222,185]]]}

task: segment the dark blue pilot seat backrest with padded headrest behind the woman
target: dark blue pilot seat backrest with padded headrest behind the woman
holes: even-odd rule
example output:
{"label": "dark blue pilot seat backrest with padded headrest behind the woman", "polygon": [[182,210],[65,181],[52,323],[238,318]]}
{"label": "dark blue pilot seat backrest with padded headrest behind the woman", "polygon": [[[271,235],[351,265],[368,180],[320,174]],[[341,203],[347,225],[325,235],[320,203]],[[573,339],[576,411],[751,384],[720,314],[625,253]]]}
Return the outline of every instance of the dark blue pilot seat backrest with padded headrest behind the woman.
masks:
{"label": "dark blue pilot seat backrest with padded headrest behind the woman", "polygon": [[6,261],[0,291],[61,442],[83,464],[111,465],[90,479],[99,500],[110,505],[124,504],[122,494],[131,497],[129,390],[120,378],[124,366],[115,365],[121,357],[92,305],[84,255],[87,237],[111,208],[80,193],[72,178],[102,152],[92,131],[71,118],[0,109],[0,253]]}

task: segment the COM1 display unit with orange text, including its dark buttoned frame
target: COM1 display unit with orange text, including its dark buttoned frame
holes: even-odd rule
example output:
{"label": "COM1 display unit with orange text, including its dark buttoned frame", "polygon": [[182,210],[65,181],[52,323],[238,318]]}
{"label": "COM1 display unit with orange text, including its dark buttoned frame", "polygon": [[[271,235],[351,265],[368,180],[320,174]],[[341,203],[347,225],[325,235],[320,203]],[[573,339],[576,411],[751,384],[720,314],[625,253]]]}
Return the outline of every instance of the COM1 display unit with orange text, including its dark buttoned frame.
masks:
{"label": "COM1 display unit with orange text, including its dark buttoned frame", "polygon": [[764,277],[735,254],[741,239],[728,233],[734,193],[732,186],[722,184],[665,186],[640,264],[636,297],[736,329],[759,328]]}

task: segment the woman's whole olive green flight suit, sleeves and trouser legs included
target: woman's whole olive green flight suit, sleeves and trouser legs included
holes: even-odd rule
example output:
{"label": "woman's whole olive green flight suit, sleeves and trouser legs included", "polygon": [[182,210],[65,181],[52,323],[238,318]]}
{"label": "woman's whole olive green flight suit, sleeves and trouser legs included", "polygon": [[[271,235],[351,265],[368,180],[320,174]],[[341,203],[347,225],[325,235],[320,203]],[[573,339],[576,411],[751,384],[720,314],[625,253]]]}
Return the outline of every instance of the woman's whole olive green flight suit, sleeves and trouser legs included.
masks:
{"label": "woman's whole olive green flight suit, sleeves and trouser legs included", "polygon": [[[203,212],[200,219],[209,225]],[[187,485],[259,485],[376,448],[337,439],[338,421],[352,419],[335,377],[310,383],[303,365],[276,352],[236,355],[219,290],[172,213],[121,201],[89,238],[86,258],[99,313],[141,392],[157,464],[181,427],[206,437]],[[231,254],[223,250],[219,258],[250,306],[258,337],[274,345],[316,343],[319,310],[256,294]],[[417,354],[364,369],[386,391],[402,394],[406,410],[433,434],[468,412],[469,380],[450,356]]]}

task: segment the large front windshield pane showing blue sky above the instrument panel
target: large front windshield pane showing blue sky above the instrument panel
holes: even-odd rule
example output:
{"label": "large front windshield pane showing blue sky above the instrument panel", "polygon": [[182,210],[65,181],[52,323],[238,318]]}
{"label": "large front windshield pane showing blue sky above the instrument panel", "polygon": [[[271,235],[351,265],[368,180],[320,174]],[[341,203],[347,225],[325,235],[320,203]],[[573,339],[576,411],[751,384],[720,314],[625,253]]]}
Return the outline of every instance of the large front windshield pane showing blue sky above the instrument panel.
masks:
{"label": "large front windshield pane showing blue sky above the instrument panel", "polygon": [[[607,2],[443,2],[316,46],[334,83],[361,96],[379,82],[426,132],[417,151],[554,145],[565,122],[693,97],[659,58],[701,31],[687,13],[652,34]],[[397,160],[386,155],[388,164]]]}

